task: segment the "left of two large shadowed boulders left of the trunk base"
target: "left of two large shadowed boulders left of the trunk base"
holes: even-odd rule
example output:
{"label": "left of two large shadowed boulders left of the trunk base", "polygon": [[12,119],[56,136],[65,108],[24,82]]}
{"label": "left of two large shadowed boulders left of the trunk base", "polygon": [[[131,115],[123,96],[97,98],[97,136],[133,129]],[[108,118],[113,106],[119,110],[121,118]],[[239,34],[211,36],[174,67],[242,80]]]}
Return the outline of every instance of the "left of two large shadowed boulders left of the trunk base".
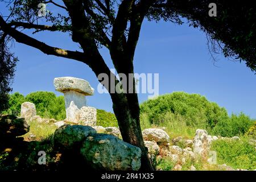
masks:
{"label": "left of two large shadowed boulders left of the trunk base", "polygon": [[70,150],[81,144],[88,135],[94,133],[96,130],[90,126],[64,125],[57,129],[53,135],[54,146]]}

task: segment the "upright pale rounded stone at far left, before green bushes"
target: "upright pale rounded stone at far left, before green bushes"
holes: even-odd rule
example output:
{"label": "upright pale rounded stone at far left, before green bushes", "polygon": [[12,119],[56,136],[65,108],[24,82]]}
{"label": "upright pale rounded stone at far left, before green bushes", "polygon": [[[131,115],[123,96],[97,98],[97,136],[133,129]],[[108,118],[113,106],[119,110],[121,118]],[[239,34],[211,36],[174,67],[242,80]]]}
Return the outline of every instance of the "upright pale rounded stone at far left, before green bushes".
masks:
{"label": "upright pale rounded stone at far left, before green bushes", "polygon": [[35,104],[31,102],[24,102],[21,105],[20,117],[25,118],[27,122],[31,120],[32,117],[36,116]]}

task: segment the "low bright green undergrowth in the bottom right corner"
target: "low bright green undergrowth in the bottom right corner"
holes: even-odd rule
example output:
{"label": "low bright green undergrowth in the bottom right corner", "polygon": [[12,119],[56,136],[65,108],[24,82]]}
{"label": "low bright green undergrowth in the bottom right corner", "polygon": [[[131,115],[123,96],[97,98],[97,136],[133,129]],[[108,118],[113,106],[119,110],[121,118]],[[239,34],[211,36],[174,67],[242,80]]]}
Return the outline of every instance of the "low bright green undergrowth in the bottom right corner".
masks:
{"label": "low bright green undergrowth in the bottom right corner", "polygon": [[216,140],[211,150],[217,152],[218,164],[227,164],[233,168],[255,169],[255,146],[246,138],[241,140]]}

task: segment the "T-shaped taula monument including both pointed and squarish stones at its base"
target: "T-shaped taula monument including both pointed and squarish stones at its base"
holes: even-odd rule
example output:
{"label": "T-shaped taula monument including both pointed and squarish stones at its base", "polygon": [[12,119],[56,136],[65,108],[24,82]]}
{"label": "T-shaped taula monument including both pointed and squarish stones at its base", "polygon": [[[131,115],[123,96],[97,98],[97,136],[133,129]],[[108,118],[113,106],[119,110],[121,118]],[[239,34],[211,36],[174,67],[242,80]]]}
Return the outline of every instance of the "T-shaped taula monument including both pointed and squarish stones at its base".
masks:
{"label": "T-shaped taula monument including both pointed and squarish stones at its base", "polygon": [[94,89],[88,81],[74,77],[54,79],[55,90],[64,93],[67,122],[96,126],[97,110],[86,106],[86,96],[93,96]]}

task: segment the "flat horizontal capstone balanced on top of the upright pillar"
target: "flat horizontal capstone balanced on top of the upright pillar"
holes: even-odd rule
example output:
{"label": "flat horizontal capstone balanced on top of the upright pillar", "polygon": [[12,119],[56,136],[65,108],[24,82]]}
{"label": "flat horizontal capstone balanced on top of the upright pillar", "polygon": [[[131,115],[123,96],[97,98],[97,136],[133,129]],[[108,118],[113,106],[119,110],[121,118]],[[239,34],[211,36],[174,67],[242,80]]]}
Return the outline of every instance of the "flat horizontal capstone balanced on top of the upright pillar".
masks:
{"label": "flat horizontal capstone balanced on top of the upright pillar", "polygon": [[65,92],[67,90],[74,90],[82,93],[84,96],[92,96],[94,89],[90,86],[88,81],[74,77],[60,77],[54,79],[55,90]]}

